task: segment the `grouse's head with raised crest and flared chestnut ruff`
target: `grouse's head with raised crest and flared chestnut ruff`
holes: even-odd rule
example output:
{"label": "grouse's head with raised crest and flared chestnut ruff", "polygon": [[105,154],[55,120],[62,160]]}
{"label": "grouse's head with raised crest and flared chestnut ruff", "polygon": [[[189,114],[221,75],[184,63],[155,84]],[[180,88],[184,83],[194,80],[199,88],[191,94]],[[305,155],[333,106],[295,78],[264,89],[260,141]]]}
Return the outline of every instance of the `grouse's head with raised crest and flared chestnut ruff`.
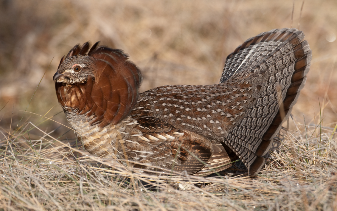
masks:
{"label": "grouse's head with raised crest and flared chestnut ruff", "polygon": [[65,112],[93,116],[92,124],[103,127],[131,112],[142,75],[122,50],[98,43],[75,45],[62,57],[53,80]]}

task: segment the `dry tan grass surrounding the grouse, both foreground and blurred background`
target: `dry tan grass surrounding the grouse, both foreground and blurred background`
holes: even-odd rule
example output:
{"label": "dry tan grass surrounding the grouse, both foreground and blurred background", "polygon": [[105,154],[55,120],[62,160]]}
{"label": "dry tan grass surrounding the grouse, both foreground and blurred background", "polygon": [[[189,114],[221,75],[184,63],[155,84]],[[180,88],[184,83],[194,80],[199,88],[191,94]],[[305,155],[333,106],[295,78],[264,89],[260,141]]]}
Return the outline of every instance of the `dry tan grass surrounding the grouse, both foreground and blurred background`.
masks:
{"label": "dry tan grass surrounding the grouse, both foreground and blurred background", "polygon": [[[0,0],[0,210],[337,210],[337,4],[301,6],[292,18],[292,0]],[[144,91],[216,83],[245,39],[291,26],[306,34],[311,70],[258,177],[241,162],[207,178],[140,175],[73,145],[52,76],[75,44],[123,49]]]}

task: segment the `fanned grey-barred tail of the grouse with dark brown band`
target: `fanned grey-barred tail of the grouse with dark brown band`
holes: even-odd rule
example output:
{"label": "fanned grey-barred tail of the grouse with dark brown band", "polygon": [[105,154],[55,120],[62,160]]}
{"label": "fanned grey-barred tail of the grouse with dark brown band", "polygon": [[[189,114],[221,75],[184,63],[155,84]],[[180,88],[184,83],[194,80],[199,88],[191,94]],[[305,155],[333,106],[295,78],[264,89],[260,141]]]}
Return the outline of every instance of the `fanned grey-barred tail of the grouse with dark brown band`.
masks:
{"label": "fanned grey-barred tail of the grouse with dark brown band", "polygon": [[[229,131],[225,143],[255,174],[272,145],[301,89],[310,68],[311,50],[297,29],[274,29],[248,39],[226,59],[220,82],[244,78],[261,86],[245,118]],[[247,74],[251,73],[251,74]]]}

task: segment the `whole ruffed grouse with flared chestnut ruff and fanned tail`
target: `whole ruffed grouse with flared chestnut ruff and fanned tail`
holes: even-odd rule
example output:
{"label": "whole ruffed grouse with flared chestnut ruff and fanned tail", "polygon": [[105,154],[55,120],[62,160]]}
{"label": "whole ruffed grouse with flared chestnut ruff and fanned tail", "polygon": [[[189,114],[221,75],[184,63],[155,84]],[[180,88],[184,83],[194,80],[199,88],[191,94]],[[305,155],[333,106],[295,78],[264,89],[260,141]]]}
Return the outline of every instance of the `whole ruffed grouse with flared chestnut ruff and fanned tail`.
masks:
{"label": "whole ruffed grouse with flared chestnut ruff and fanned tail", "polygon": [[296,29],[261,33],[227,57],[219,84],[144,93],[140,70],[122,50],[76,45],[54,75],[57,98],[94,155],[196,175],[239,157],[255,174],[305,84],[311,50],[303,38]]}

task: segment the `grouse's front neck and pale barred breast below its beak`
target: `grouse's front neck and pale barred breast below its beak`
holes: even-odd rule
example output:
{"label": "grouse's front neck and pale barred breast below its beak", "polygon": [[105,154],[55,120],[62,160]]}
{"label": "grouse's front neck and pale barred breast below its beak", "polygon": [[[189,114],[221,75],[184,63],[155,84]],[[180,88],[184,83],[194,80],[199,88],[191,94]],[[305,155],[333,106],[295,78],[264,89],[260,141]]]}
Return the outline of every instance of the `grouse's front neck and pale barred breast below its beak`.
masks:
{"label": "grouse's front neck and pale barred breast below its beak", "polygon": [[84,93],[85,84],[63,86],[57,91],[69,125],[86,151],[96,156],[118,158],[123,154],[119,145],[130,127],[128,124],[136,121],[128,116],[116,124],[105,120],[104,113],[100,113],[104,105],[90,101]]}

